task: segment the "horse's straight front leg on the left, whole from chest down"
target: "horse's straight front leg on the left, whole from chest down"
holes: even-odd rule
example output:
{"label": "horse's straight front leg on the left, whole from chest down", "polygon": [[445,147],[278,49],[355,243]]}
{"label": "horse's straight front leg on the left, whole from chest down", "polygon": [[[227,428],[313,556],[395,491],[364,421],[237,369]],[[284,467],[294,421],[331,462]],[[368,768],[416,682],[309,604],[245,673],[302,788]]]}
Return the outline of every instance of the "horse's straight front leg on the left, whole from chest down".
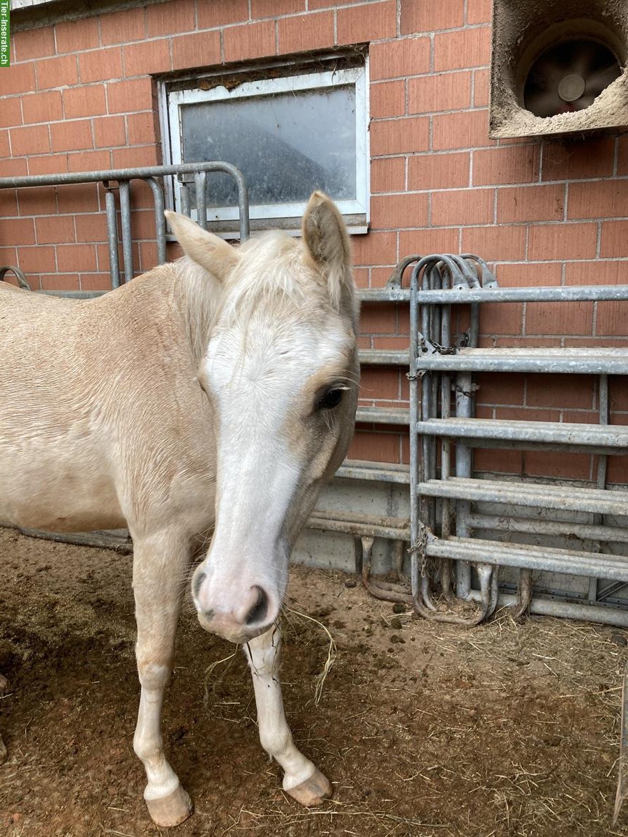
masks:
{"label": "horse's straight front leg on the left, whole from chest down", "polygon": [[163,691],[172,671],[174,635],[185,589],[189,546],[177,537],[134,542],[137,671],[142,686],[133,749],[147,774],[144,791],[152,821],[167,828],[183,823],[193,805],[163,752]]}

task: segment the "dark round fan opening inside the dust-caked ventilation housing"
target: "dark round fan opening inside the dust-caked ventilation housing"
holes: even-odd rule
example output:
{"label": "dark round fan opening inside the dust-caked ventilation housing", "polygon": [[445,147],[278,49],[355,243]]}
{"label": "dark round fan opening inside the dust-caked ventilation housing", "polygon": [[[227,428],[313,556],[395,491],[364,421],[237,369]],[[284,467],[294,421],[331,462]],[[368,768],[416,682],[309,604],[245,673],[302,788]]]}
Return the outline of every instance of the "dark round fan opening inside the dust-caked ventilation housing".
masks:
{"label": "dark round fan opening inside the dust-caked ventilation housing", "polygon": [[564,41],[535,59],[523,85],[523,104],[534,116],[584,110],[620,74],[605,44],[585,38]]}

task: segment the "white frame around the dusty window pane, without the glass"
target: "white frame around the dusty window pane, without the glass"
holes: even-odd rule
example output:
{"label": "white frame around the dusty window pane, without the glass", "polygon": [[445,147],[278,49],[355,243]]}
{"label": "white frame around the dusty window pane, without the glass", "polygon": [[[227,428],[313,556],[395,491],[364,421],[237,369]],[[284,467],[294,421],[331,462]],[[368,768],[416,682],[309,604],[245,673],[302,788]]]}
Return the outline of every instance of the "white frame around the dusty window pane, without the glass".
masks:
{"label": "white frame around the dusty window pane, without the glass", "polygon": [[[218,79],[217,79],[218,80]],[[359,67],[346,69],[330,69],[323,72],[287,75],[281,78],[260,79],[245,82],[234,90],[228,90],[218,85],[211,90],[188,88],[187,90],[164,91],[167,98],[167,117],[170,136],[170,162],[178,164],[182,160],[182,122],[180,108],[196,102],[233,101],[255,96],[275,93],[297,93],[302,90],[322,90],[333,87],[355,85],[355,126],[356,126],[356,198],[354,200],[337,200],[340,212],[348,218],[359,217],[362,223],[360,229],[354,232],[366,232],[369,215],[369,133],[368,133],[368,60]],[[167,135],[166,135],[167,136]],[[174,205],[181,211],[181,194],[178,188],[174,190]],[[270,203],[251,204],[251,220],[271,222],[278,218],[298,218],[303,214],[306,202],[300,203]],[[197,212],[193,208],[192,217]],[[234,221],[238,218],[237,207],[208,208],[208,223],[214,221]],[[366,223],[365,223],[366,222]],[[270,224],[269,224],[270,225]]]}

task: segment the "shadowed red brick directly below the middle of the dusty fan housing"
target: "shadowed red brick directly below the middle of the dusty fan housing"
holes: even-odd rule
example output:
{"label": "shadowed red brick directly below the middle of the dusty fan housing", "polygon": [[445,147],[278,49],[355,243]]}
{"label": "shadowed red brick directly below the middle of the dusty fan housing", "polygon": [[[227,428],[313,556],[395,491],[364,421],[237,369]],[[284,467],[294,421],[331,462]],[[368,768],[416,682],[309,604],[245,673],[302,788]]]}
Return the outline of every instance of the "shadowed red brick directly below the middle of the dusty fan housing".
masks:
{"label": "shadowed red brick directly below the middle of the dusty fan housing", "polygon": [[577,180],[613,173],[615,141],[610,139],[543,144],[543,180]]}

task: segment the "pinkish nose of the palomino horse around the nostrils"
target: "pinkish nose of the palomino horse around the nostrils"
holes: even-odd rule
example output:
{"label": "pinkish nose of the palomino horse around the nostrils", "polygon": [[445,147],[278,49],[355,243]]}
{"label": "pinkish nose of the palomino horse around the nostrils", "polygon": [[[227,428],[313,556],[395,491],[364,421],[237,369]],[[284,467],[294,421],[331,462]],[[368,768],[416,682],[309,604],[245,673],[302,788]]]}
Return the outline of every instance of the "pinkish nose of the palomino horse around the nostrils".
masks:
{"label": "pinkish nose of the palomino horse around the nostrils", "polygon": [[[194,579],[194,587],[198,591],[204,581],[204,573],[199,573]],[[230,642],[246,642],[259,634],[263,634],[275,620],[277,614],[271,613],[275,608],[270,607],[270,598],[259,584],[250,587],[232,610],[217,611],[207,607],[198,612],[198,621],[211,634],[218,634],[229,639]]]}

